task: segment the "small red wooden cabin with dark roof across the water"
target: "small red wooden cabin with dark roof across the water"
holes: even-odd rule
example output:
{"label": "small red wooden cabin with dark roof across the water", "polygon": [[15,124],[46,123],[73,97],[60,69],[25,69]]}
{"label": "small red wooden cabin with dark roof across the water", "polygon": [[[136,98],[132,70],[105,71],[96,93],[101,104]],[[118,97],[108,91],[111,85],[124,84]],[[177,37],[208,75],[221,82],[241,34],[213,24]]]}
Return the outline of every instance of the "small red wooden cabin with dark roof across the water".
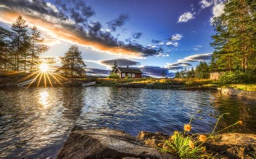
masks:
{"label": "small red wooden cabin with dark roof across the water", "polygon": [[120,78],[142,78],[143,74],[140,69],[129,68],[129,66],[127,66],[126,68],[117,67],[116,70],[114,70],[114,73],[118,74]]}

